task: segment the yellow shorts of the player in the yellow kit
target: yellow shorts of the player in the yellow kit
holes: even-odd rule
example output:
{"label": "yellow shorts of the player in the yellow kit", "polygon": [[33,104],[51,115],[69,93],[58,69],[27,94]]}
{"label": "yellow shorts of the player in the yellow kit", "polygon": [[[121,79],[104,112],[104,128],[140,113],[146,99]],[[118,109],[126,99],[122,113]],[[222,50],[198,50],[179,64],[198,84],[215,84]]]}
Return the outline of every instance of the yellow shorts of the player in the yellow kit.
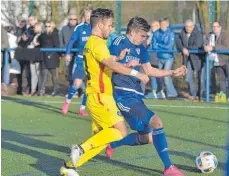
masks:
{"label": "yellow shorts of the player in the yellow kit", "polygon": [[87,94],[87,110],[92,118],[92,132],[96,133],[124,121],[112,95]]}

